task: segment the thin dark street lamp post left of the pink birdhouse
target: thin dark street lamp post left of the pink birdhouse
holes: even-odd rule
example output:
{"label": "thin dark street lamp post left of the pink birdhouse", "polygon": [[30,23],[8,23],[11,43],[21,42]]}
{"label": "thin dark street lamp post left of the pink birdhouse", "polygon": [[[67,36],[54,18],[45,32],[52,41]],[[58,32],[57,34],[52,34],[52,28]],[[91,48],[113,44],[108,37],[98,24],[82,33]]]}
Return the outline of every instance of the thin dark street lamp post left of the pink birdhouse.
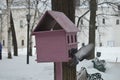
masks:
{"label": "thin dark street lamp post left of the pink birdhouse", "polygon": [[30,19],[31,19],[31,15],[28,13],[26,15],[26,19],[27,19],[27,64],[29,64],[29,51],[30,51],[30,47],[29,47],[29,30],[30,30]]}

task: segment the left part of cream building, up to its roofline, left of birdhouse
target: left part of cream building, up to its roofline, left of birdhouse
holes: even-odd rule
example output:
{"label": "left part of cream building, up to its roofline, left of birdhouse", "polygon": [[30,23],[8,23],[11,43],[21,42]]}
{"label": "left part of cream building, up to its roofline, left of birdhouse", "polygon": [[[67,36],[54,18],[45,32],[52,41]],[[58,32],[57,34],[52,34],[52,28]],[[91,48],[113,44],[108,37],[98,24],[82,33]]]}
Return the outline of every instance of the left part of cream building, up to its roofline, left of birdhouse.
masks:
{"label": "left part of cream building, up to its roofline, left of birdhouse", "polygon": [[[28,14],[28,9],[26,6],[21,6],[16,5],[19,4],[19,2],[15,2],[11,6],[11,11],[12,11],[12,16],[13,16],[13,21],[14,21],[14,27],[15,27],[15,32],[16,32],[16,38],[17,38],[17,44],[18,48],[25,48],[27,47],[27,20],[26,20],[26,15]],[[33,25],[34,21],[34,13],[35,13],[35,8],[30,9],[30,27]],[[3,45],[4,48],[7,48],[8,46],[8,27],[7,27],[7,9],[3,8],[1,9],[1,16],[0,16],[0,41]],[[35,25],[37,24],[36,22],[40,18],[40,13],[37,12],[37,18],[35,20]],[[38,17],[39,16],[39,17]],[[35,26],[34,25],[34,26]],[[11,36],[12,37],[12,36]]]}

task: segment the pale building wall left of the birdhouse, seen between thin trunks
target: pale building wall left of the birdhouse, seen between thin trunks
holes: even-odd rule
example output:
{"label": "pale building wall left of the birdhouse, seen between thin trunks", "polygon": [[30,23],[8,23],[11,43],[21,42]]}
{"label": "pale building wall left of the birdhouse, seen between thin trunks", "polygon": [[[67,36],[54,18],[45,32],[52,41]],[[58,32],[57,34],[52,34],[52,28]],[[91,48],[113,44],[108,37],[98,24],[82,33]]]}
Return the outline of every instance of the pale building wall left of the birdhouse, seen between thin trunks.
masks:
{"label": "pale building wall left of the birdhouse, seen between thin trunks", "polygon": [[[6,9],[2,11],[2,44],[4,48],[7,48],[8,44],[8,28],[7,28],[7,12]],[[31,20],[30,26],[33,24],[33,16],[34,16],[34,9],[30,10]],[[26,48],[27,47],[27,20],[26,15],[28,14],[28,9],[26,8],[13,8],[12,15],[14,20],[14,27],[16,31],[16,38],[18,48]],[[35,43],[35,42],[33,42]],[[34,44],[35,45],[35,44]]]}

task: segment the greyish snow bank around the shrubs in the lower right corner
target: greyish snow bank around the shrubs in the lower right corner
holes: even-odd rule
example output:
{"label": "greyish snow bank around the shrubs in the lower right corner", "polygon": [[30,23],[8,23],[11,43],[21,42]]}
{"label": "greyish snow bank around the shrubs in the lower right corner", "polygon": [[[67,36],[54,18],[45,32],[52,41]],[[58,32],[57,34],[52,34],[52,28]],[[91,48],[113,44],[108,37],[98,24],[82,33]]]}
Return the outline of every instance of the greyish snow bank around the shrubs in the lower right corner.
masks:
{"label": "greyish snow bank around the shrubs in the lower right corner", "polygon": [[88,74],[101,73],[104,80],[119,80],[120,79],[120,63],[107,62],[106,71],[100,72],[93,68],[91,60],[84,60],[77,66],[77,71],[79,72],[81,67],[87,69]]}

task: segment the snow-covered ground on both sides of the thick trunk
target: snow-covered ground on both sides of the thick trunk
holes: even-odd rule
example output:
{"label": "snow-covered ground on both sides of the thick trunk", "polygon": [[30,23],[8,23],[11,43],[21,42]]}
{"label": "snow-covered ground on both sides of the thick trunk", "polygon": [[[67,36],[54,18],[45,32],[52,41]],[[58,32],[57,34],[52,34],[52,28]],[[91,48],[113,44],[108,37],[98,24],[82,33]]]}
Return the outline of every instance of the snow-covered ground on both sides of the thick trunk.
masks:
{"label": "snow-covered ground on both sides of the thick trunk", "polygon": [[[97,51],[102,52],[101,58],[107,60],[105,73],[94,69],[90,60],[80,62],[77,65],[77,72],[80,71],[81,67],[86,67],[89,74],[99,72],[104,80],[119,80],[120,63],[116,62],[116,56],[119,61],[120,55],[116,54],[120,51],[119,48],[116,49],[118,52],[112,50],[114,49],[97,48]],[[116,54],[111,55],[112,53]],[[35,59],[34,54],[34,56],[30,57],[30,64],[26,64],[26,49],[19,49],[18,57],[13,56],[13,59],[7,59],[7,53],[4,49],[3,59],[0,60],[0,80],[54,80],[53,63],[37,63]]]}

